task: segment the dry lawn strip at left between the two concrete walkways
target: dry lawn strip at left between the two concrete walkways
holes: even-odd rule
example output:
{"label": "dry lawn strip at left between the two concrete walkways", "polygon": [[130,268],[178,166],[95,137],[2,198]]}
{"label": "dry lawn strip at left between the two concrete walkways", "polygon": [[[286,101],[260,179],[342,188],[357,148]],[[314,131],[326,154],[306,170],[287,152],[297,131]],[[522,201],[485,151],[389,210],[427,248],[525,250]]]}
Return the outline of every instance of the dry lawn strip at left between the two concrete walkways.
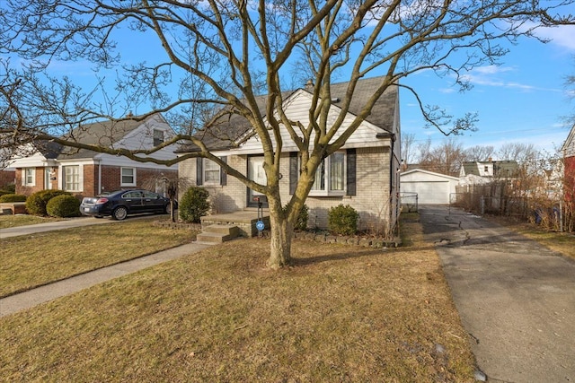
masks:
{"label": "dry lawn strip at left between the two concrete walkways", "polygon": [[190,242],[195,233],[132,220],[2,239],[0,297]]}

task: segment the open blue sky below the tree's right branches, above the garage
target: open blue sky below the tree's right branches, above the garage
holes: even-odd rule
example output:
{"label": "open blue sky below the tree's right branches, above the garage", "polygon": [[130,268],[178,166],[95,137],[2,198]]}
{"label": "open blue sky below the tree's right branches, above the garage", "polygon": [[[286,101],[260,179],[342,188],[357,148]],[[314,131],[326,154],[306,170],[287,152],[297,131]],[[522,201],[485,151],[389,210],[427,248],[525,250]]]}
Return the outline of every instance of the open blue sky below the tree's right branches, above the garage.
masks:
{"label": "open blue sky below the tree's right branches, above the garage", "polygon": [[[569,134],[564,117],[575,114],[565,84],[567,75],[575,75],[575,26],[539,30],[536,39],[521,39],[501,59],[500,66],[482,66],[469,73],[471,91],[460,93],[453,79],[438,78],[431,72],[416,74],[405,83],[417,87],[425,102],[438,103],[451,114],[462,116],[477,112],[477,132],[457,137],[464,147],[491,145],[497,150],[508,142],[534,144],[553,152]],[[573,88],[571,88],[571,92]],[[423,119],[408,92],[401,95],[403,133],[416,135],[415,144],[428,138],[441,144],[446,137],[437,129],[424,129]]]}

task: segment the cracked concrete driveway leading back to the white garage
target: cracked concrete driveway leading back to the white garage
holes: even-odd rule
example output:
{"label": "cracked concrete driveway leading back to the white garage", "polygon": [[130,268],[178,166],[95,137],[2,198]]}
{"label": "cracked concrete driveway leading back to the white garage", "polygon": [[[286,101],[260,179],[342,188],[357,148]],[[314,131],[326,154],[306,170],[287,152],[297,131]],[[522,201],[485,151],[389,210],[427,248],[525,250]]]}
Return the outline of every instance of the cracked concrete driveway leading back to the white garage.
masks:
{"label": "cracked concrete driveway leading back to the white garage", "polygon": [[473,214],[421,206],[490,382],[575,382],[575,262]]}

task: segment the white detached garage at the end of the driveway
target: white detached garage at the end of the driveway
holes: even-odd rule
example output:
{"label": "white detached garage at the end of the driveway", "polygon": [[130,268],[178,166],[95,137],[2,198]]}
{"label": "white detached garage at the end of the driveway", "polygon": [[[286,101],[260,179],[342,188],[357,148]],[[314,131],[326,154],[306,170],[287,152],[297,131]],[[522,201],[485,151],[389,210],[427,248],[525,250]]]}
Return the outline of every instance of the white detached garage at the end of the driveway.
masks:
{"label": "white detached garage at the end of the driveway", "polygon": [[429,170],[413,169],[400,176],[402,193],[417,193],[420,205],[448,205],[459,178]]}

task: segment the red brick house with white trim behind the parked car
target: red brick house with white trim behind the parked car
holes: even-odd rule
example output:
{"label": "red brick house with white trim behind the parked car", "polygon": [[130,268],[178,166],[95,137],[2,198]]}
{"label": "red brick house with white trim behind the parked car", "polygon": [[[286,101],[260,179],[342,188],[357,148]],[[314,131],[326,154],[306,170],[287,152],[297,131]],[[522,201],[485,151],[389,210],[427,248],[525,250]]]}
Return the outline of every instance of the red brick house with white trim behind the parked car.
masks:
{"label": "red brick house with white trim behind the parked car", "polygon": [[[173,129],[160,114],[142,121],[103,121],[76,128],[72,133],[82,144],[131,150],[149,149],[173,136]],[[22,148],[28,155],[14,158],[16,193],[31,195],[44,189],[61,189],[76,196],[96,196],[128,187],[153,188],[164,193],[163,176],[177,178],[178,167],[138,162],[127,157],[36,142]],[[173,159],[173,148],[155,152],[155,158]],[[154,180],[158,180],[155,184]],[[154,184],[153,186],[151,186]]]}

